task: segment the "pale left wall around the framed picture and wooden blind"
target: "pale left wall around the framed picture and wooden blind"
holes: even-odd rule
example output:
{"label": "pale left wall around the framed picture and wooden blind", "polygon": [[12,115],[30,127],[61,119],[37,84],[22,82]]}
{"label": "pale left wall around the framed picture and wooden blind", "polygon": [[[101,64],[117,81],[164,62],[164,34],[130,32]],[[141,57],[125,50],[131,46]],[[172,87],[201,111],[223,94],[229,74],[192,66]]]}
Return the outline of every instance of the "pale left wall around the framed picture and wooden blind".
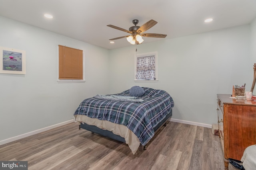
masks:
{"label": "pale left wall around the framed picture and wooden blind", "polygon": [[[26,74],[0,74],[0,141],[73,119],[84,98],[106,94],[108,50],[0,17],[0,46],[26,51]],[[58,45],[82,49],[85,83],[58,83]]]}

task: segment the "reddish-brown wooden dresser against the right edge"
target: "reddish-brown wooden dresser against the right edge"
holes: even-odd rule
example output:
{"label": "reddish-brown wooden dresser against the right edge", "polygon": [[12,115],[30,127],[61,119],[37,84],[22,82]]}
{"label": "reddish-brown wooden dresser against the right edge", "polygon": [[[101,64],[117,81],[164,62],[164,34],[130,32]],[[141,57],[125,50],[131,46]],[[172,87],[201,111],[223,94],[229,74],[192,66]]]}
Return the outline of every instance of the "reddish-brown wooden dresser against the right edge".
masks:
{"label": "reddish-brown wooden dresser against the right edge", "polygon": [[225,169],[229,158],[241,160],[244,150],[256,144],[256,102],[217,94],[218,128],[224,151]]}

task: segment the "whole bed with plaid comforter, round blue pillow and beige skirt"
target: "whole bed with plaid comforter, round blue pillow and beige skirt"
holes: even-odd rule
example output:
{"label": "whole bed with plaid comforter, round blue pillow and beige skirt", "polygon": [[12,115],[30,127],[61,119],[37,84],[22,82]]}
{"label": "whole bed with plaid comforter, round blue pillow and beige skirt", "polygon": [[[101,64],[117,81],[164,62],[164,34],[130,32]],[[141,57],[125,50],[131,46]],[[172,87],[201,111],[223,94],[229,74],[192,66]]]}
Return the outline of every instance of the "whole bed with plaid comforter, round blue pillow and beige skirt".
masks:
{"label": "whole bed with plaid comforter, round blue pillow and beige skirt", "polygon": [[74,118],[79,129],[125,142],[135,154],[172,117],[173,107],[166,91],[133,86],[119,94],[98,94],[83,100]]}

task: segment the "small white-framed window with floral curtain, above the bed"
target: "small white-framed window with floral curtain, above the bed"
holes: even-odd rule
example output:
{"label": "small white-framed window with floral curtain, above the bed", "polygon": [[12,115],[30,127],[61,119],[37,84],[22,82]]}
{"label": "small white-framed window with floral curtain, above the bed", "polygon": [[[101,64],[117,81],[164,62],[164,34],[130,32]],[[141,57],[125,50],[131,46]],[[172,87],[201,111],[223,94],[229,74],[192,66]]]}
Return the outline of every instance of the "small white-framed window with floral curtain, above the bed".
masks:
{"label": "small white-framed window with floral curtain, above the bed", "polygon": [[157,52],[135,55],[135,80],[158,80]]}

